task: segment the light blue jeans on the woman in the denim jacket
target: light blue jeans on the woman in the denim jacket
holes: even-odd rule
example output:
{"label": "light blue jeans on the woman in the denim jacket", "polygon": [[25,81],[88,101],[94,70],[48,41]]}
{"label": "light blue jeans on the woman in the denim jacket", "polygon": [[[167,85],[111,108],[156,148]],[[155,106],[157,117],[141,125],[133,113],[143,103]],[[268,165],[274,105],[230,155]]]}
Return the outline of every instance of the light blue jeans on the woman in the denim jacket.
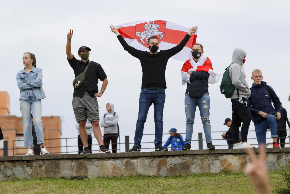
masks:
{"label": "light blue jeans on the woman in the denim jacket", "polygon": [[33,147],[31,112],[33,117],[33,125],[37,137],[37,144],[44,143],[41,120],[41,100],[36,99],[32,90],[29,90],[27,100],[20,100],[20,111],[22,114],[24,147]]}

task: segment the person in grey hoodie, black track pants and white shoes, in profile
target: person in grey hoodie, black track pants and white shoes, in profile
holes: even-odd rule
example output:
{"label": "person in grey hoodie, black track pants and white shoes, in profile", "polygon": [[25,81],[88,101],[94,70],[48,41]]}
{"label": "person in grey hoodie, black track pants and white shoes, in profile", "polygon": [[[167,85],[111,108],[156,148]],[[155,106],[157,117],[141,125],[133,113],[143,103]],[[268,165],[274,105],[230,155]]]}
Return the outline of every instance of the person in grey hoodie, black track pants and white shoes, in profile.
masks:
{"label": "person in grey hoodie, black track pants and white shoes, in profile", "polygon": [[[246,81],[244,72],[244,63],[246,61],[246,51],[241,48],[236,48],[233,52],[232,64],[229,67],[229,76],[232,84],[236,87],[233,95],[230,97],[232,102],[232,136],[234,140],[234,149],[246,148],[252,146],[248,144],[247,137],[251,122],[251,112],[247,104],[247,99],[251,95],[251,90]],[[242,124],[241,134],[242,141],[239,140],[239,128]]]}

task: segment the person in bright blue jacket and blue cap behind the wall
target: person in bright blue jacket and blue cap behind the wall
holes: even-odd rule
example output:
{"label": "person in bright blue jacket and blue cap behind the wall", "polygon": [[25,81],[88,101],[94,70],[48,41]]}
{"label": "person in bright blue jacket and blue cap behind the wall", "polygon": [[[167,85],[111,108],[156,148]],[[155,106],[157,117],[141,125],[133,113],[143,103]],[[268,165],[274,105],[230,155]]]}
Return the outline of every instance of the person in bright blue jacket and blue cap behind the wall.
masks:
{"label": "person in bright blue jacket and blue cap behind the wall", "polygon": [[168,147],[169,144],[171,144],[171,150],[181,150],[181,148],[184,146],[185,142],[183,140],[183,137],[181,134],[176,133],[176,128],[171,128],[169,130],[170,137],[168,137],[166,143],[163,145],[163,147]]}

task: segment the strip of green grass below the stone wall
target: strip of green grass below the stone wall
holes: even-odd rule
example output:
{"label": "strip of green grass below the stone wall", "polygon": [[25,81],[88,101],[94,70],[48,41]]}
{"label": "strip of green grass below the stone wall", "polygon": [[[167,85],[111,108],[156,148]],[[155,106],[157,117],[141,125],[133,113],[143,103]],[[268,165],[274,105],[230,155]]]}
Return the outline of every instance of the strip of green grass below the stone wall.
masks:
{"label": "strip of green grass below the stone wall", "polygon": [[[275,171],[269,172],[270,185],[285,185]],[[255,193],[243,173],[192,174],[187,176],[129,176],[66,180],[0,181],[1,193]]]}

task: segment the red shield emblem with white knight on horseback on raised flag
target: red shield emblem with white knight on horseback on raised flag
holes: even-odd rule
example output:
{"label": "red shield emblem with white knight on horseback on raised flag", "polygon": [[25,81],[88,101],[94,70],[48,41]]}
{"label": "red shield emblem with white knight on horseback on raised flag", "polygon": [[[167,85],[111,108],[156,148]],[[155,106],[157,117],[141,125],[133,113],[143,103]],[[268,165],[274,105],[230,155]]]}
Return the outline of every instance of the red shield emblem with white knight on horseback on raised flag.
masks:
{"label": "red shield emblem with white knight on horseback on raised flag", "polygon": [[136,24],[135,34],[138,42],[147,47],[148,39],[151,36],[159,38],[159,43],[163,40],[165,33],[166,21],[156,20],[148,21],[141,24]]}

